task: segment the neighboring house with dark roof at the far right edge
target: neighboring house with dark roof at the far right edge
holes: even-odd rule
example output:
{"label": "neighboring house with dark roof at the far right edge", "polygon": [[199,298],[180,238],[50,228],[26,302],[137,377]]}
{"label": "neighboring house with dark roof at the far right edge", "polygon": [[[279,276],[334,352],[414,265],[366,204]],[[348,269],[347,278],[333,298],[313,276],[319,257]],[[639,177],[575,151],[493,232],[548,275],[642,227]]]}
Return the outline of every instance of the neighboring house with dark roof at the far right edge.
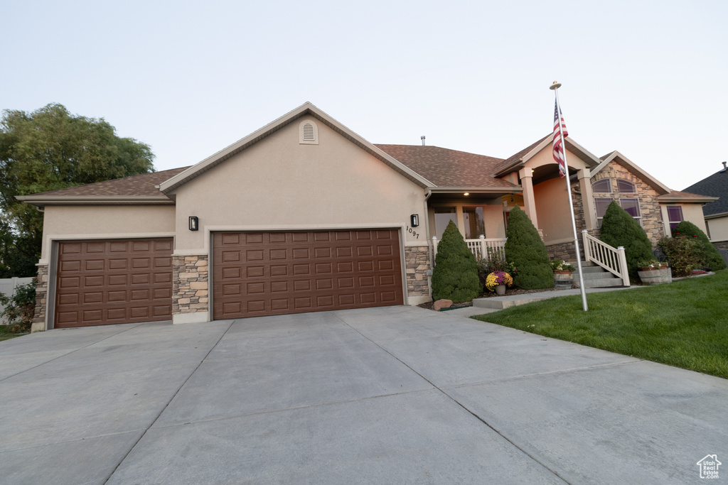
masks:
{"label": "neighboring house with dark roof at the far right edge", "polygon": [[719,172],[685,189],[693,193],[720,198],[703,206],[705,225],[708,228],[706,233],[718,249],[728,249],[728,167],[726,165],[727,162],[724,161],[723,169]]}

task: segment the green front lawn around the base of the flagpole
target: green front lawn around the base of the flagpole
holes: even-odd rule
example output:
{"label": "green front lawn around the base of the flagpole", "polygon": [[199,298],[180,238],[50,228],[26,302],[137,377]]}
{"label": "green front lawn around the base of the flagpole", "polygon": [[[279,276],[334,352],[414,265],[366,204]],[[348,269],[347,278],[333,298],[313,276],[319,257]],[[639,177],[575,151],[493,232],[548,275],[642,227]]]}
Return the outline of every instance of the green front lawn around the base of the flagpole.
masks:
{"label": "green front lawn around the base of the flagpole", "polygon": [[524,332],[728,378],[728,270],[475,316]]}

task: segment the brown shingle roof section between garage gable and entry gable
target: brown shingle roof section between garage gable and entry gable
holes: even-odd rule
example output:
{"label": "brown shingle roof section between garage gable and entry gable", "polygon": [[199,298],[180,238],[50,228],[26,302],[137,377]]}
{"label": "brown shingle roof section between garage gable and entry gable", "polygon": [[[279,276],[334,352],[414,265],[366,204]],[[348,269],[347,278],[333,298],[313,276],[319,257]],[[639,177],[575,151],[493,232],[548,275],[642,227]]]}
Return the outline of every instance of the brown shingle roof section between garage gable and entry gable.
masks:
{"label": "brown shingle roof section between garage gable and entry gable", "polygon": [[503,160],[492,156],[422,145],[375,145],[438,187],[513,188],[491,177]]}

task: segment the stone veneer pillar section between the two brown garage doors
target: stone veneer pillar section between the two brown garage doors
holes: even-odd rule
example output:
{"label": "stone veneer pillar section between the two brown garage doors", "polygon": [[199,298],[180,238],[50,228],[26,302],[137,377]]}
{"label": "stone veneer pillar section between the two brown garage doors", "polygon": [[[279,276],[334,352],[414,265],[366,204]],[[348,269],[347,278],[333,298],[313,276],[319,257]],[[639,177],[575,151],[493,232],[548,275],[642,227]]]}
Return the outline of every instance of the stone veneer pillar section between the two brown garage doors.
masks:
{"label": "stone veneer pillar section between the two brown garage doors", "polygon": [[207,254],[172,256],[172,314],[210,310]]}

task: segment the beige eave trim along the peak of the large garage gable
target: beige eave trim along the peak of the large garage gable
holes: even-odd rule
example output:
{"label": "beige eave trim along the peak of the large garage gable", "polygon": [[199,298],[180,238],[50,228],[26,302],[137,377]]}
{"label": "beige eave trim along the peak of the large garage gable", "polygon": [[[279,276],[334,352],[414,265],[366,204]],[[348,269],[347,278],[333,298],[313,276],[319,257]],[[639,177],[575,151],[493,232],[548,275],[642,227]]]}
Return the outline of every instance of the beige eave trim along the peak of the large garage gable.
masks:
{"label": "beige eave trim along the peak of the large garage gable", "polygon": [[241,140],[238,140],[232,145],[229,145],[229,147],[218,151],[218,153],[215,153],[213,156],[209,156],[207,157],[207,159],[200,161],[198,164],[189,167],[189,169],[186,169],[184,172],[181,172],[178,175],[175,175],[174,177],[165,180],[165,182],[159,184],[159,190],[163,193],[169,193],[170,191],[175,190],[175,188],[178,188],[184,183],[189,182],[189,180],[192,180],[195,177],[202,175],[202,173],[207,172],[207,170],[212,169],[216,165],[221,164],[223,161],[231,158],[237,153],[240,153],[241,151],[245,150],[245,148],[248,148],[250,145],[258,143],[258,141],[264,139],[269,135],[272,135],[279,129],[282,129],[293,121],[296,121],[296,119],[301,118],[301,116],[306,115],[311,115],[318,121],[321,121],[329,128],[338,132],[339,135],[346,137],[349,141],[355,143],[355,145],[363,148],[365,151],[368,151],[381,161],[384,161],[384,163],[392,167],[392,169],[400,172],[401,175],[404,175],[409,180],[413,181],[417,185],[420,185],[422,188],[432,187],[435,185],[429,180],[422,177],[422,175],[419,175],[408,167],[405,167],[405,165],[401,164],[392,156],[389,156],[389,154],[384,153],[384,151],[381,151],[379,148],[376,148],[376,146],[369,143],[363,137],[360,137],[360,135],[357,135],[355,132],[345,127],[343,124],[340,124],[339,121],[331,118],[331,116],[324,113],[316,106],[312,105],[312,103],[307,102],[294,109],[293,111],[286,113],[275,121],[266,124],[266,126],[258,129],[258,131],[253,132],[252,134],[242,138]]}

